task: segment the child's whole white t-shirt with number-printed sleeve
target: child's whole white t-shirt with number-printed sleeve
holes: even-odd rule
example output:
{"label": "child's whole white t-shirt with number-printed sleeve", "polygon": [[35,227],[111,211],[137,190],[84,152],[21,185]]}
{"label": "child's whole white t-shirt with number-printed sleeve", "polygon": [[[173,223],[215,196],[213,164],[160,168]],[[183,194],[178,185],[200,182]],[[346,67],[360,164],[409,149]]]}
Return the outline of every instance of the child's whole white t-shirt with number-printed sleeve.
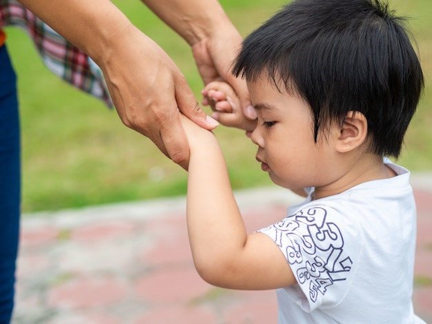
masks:
{"label": "child's whole white t-shirt with number-printed sleeve", "polygon": [[409,171],[288,209],[263,232],[297,284],[277,290],[279,323],[424,323],[413,313],[416,212]]}

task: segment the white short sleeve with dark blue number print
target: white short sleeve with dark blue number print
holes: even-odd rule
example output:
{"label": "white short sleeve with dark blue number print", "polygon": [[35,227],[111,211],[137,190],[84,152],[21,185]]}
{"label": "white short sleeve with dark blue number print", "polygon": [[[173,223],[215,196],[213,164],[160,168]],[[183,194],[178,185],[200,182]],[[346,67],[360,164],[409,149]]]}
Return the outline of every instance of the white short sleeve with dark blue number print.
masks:
{"label": "white short sleeve with dark blue number print", "polygon": [[331,308],[342,301],[360,255],[358,226],[346,213],[304,206],[259,232],[270,236],[286,257],[298,284],[287,291],[303,310]]}

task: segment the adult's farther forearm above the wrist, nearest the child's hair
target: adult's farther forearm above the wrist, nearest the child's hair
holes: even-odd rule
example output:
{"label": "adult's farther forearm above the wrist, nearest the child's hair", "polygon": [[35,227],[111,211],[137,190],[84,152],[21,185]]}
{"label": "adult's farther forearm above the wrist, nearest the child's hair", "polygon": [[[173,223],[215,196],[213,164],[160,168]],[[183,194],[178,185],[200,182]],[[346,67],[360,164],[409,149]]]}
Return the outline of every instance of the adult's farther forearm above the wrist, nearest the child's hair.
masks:
{"label": "adult's farther forearm above the wrist, nearest the child's hair", "polygon": [[141,0],[189,45],[210,37],[230,20],[217,0]]}

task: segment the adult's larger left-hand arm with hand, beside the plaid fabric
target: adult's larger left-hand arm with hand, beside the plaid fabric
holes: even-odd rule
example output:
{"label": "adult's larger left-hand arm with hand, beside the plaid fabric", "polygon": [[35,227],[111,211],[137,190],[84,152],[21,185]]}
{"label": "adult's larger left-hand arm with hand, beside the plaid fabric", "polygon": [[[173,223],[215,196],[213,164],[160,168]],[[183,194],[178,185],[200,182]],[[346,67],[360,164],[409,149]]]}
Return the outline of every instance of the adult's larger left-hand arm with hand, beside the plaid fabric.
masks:
{"label": "adult's larger left-hand arm with hand, beside the plaid fabric", "polygon": [[215,123],[168,54],[109,0],[19,1],[99,65],[121,121],[186,168],[178,110],[204,128]]}

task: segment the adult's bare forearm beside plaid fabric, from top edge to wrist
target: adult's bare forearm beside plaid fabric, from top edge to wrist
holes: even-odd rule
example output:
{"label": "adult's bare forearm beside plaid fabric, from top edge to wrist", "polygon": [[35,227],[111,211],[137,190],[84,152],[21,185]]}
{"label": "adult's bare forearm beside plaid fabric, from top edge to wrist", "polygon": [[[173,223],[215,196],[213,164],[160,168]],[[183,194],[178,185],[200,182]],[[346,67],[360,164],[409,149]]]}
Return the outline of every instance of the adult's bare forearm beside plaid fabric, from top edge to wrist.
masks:
{"label": "adult's bare forearm beside plaid fabric, from top edge to wrist", "polygon": [[115,35],[131,25],[109,0],[19,0],[94,59],[115,41]]}

